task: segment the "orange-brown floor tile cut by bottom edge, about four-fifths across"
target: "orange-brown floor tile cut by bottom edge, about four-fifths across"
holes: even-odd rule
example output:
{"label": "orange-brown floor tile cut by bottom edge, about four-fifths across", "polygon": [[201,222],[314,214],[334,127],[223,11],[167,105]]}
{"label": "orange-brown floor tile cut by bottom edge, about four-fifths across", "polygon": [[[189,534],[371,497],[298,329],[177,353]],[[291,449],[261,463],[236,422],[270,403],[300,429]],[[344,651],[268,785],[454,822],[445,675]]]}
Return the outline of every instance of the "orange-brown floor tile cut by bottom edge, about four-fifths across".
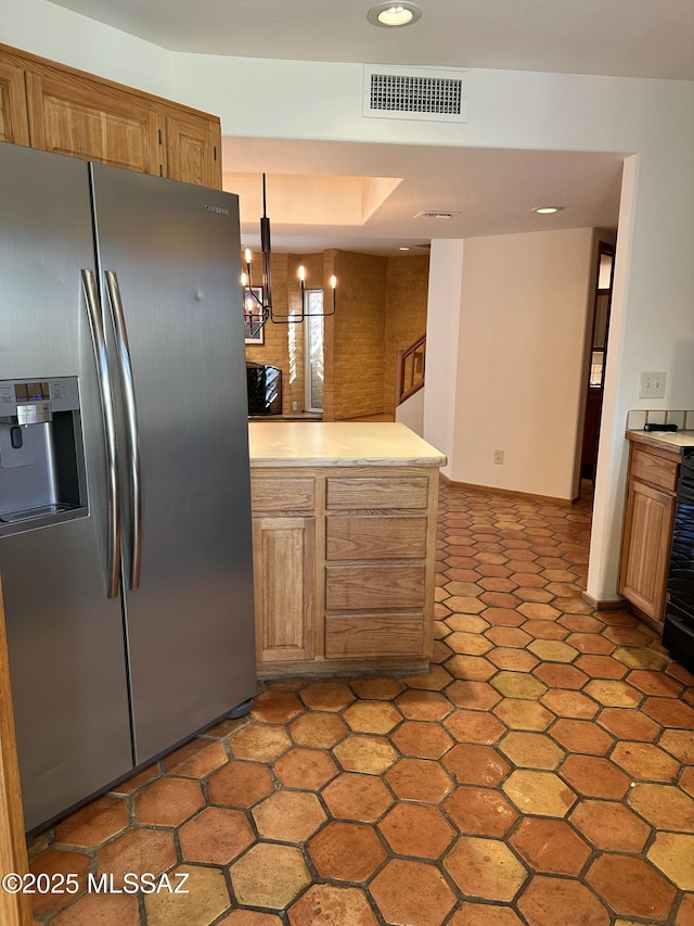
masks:
{"label": "orange-brown floor tile cut by bottom edge, about four-fifths across", "polygon": [[562,926],[609,926],[612,922],[605,906],[580,881],[545,875],[530,880],[518,910],[529,926],[556,926],[557,910]]}

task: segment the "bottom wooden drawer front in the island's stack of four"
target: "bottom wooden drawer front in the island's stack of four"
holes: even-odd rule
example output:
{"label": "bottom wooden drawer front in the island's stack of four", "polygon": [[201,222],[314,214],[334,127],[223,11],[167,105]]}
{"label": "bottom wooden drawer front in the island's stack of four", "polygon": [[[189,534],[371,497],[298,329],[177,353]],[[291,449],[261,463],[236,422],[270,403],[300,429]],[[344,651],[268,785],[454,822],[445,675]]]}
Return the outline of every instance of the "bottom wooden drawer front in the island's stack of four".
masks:
{"label": "bottom wooden drawer front in the island's stack of four", "polygon": [[350,614],[325,618],[325,658],[425,656],[419,614]]}

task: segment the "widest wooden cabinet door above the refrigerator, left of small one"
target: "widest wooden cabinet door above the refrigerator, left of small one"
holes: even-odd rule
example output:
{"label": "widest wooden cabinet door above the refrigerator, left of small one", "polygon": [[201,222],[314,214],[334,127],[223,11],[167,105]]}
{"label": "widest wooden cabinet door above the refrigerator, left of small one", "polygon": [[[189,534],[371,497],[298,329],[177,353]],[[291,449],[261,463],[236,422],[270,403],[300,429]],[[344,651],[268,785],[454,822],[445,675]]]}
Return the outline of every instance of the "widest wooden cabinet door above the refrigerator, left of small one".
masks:
{"label": "widest wooden cabinet door above the refrigerator, left of small one", "polygon": [[150,100],[40,65],[27,71],[27,98],[33,148],[162,173],[164,126]]}

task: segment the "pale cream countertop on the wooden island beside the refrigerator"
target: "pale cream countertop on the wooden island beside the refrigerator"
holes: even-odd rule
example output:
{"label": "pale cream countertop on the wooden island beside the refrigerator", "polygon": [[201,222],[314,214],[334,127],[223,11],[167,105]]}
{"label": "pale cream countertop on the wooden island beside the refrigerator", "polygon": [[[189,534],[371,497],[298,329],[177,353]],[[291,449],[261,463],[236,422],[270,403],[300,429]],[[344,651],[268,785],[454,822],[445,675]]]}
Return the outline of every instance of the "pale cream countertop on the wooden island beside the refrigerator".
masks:
{"label": "pale cream countertop on the wooden island beside the refrigerator", "polygon": [[388,421],[249,421],[250,466],[445,466],[404,424]]}

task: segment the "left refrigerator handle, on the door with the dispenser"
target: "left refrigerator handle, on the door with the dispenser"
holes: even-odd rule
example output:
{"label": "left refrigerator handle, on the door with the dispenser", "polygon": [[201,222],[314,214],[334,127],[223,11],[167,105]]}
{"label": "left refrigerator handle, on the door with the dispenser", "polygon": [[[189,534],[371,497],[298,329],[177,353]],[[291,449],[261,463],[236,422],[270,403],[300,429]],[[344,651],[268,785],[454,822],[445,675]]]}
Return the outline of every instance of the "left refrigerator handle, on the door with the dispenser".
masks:
{"label": "left refrigerator handle, on the door with the dispenser", "polygon": [[94,363],[99,380],[99,396],[104,423],[106,443],[106,482],[107,482],[107,571],[106,597],[116,598],[120,583],[120,500],[118,497],[118,457],[116,452],[116,422],[111,391],[111,375],[108,372],[108,356],[106,353],[106,335],[103,316],[97,290],[94,274],[82,269],[82,290],[89,315],[91,342],[94,350]]}

